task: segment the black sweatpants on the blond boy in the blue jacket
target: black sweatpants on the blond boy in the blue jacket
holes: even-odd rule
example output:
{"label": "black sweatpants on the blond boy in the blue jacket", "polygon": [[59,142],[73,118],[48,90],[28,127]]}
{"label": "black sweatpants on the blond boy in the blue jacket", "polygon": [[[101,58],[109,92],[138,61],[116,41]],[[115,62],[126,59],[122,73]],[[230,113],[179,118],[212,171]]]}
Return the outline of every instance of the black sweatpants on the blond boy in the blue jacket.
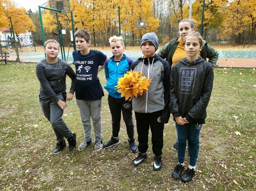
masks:
{"label": "black sweatpants on the blond boy in the blue jacket", "polygon": [[126,125],[128,138],[134,136],[132,121],[132,102],[125,101],[125,98],[114,98],[108,95],[108,106],[112,117],[112,136],[118,137],[120,131],[121,111]]}

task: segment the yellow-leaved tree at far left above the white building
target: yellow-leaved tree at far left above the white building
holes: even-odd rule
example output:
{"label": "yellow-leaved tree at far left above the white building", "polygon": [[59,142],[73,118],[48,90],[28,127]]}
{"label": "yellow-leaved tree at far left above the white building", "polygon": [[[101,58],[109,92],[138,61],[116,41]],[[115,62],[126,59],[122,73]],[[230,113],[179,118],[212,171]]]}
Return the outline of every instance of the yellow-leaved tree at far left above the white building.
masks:
{"label": "yellow-leaved tree at far left above the white building", "polygon": [[17,5],[10,0],[0,0],[0,3],[0,30],[2,28],[9,28],[11,30],[10,17],[14,33],[17,36],[20,33],[35,30],[35,25],[29,18],[25,8],[17,8]]}

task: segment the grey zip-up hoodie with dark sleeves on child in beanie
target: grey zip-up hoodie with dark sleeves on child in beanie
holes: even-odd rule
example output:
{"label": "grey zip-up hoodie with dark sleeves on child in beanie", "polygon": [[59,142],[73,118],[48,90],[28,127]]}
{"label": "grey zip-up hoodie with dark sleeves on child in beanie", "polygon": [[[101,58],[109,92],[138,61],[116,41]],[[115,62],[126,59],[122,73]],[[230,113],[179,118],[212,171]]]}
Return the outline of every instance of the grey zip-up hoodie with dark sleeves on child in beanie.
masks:
{"label": "grey zip-up hoodie with dark sleeves on child in beanie", "polygon": [[130,70],[143,73],[151,78],[148,92],[132,98],[132,108],[138,113],[153,113],[163,110],[161,122],[167,123],[169,112],[170,64],[158,55],[150,58],[140,57],[132,63]]}

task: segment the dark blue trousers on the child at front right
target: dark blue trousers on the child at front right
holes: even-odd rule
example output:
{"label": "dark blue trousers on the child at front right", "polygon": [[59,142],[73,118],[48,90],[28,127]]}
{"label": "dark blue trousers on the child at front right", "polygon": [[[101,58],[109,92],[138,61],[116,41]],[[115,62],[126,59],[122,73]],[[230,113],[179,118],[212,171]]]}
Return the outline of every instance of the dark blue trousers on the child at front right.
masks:
{"label": "dark blue trousers on the child at front right", "polygon": [[202,124],[186,123],[185,125],[178,125],[175,122],[178,136],[178,163],[184,163],[187,140],[189,143],[189,165],[196,166],[198,151],[199,151],[199,134]]}

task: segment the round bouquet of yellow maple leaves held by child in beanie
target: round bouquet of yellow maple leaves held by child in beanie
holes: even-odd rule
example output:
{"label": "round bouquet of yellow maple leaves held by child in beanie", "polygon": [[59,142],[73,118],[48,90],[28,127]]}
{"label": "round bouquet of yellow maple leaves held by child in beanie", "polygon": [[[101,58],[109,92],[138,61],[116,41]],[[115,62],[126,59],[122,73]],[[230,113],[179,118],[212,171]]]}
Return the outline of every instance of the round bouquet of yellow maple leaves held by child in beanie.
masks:
{"label": "round bouquet of yellow maple leaves held by child in beanie", "polygon": [[143,95],[148,91],[150,78],[143,76],[142,73],[127,71],[126,74],[118,79],[117,86],[118,92],[125,100],[130,101],[133,96]]}

